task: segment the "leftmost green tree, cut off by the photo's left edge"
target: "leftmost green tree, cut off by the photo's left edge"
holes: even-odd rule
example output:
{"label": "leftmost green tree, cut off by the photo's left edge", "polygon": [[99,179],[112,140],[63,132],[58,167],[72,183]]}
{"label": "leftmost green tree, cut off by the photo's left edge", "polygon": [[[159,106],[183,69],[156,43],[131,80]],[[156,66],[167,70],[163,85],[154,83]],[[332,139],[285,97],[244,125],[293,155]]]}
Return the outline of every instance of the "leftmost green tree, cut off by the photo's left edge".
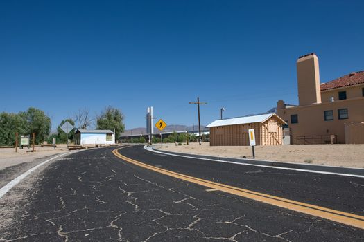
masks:
{"label": "leftmost green tree, cut off by the photo's left edge", "polygon": [[15,145],[15,133],[18,138],[29,134],[26,119],[16,113],[0,113],[0,145]]}

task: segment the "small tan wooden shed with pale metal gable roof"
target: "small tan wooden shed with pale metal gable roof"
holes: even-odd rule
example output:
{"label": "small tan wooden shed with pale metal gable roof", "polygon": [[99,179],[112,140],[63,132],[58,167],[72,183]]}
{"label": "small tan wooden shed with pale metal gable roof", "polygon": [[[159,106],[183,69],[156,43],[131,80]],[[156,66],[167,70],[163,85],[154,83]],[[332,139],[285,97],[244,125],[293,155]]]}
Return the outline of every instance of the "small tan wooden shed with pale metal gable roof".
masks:
{"label": "small tan wooden shed with pale metal gable roof", "polygon": [[216,120],[210,128],[210,145],[249,145],[248,130],[254,129],[257,145],[282,145],[282,125],[275,113]]}

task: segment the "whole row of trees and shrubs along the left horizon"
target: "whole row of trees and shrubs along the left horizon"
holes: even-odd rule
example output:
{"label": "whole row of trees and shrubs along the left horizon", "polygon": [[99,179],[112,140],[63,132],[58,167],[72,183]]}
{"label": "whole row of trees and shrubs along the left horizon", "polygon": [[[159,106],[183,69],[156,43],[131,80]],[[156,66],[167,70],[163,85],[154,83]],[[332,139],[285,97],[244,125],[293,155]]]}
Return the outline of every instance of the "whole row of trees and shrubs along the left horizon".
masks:
{"label": "whole row of trees and shrubs along the left horizon", "polygon": [[[53,143],[55,138],[58,144],[67,142],[67,135],[62,131],[61,127],[64,122],[69,122],[76,129],[110,129],[115,131],[115,137],[120,137],[124,131],[123,113],[121,109],[116,109],[112,106],[107,106],[101,114],[89,114],[88,109],[79,109],[71,118],[65,118],[58,124],[54,133],[51,133],[51,118],[40,109],[30,107],[27,111],[19,113],[0,113],[0,146],[14,146],[15,133],[18,133],[18,142],[20,136],[31,137],[35,133],[35,144],[40,145],[44,141],[49,144]],[[68,138],[73,142],[76,129],[73,129]],[[143,141],[143,140],[141,140]]]}

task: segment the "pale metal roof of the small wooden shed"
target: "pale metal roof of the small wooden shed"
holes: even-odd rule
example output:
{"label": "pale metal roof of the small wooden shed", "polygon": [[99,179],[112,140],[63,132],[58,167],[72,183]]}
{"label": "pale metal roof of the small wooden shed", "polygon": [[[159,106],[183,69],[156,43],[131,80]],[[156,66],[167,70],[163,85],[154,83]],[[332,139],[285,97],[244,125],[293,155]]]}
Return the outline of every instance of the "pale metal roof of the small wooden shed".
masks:
{"label": "pale metal roof of the small wooden shed", "polygon": [[227,126],[227,125],[236,125],[236,124],[251,124],[253,122],[266,122],[269,118],[272,118],[272,116],[276,116],[279,120],[281,120],[282,123],[284,120],[279,118],[279,116],[275,113],[268,113],[268,114],[262,114],[262,115],[254,115],[254,116],[248,116],[248,117],[239,117],[239,118],[227,118],[224,120],[215,120],[214,122],[211,122],[211,124],[207,125],[207,127],[219,127],[219,126]]}

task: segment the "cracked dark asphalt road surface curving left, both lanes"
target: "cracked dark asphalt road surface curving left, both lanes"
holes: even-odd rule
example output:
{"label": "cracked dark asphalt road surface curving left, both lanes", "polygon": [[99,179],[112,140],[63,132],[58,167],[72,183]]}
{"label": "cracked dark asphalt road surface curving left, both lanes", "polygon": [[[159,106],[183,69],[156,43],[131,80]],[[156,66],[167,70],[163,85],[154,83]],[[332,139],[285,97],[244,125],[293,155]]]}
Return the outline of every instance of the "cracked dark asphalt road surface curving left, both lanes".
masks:
{"label": "cracked dark asphalt road surface curving left, both lanes", "polygon": [[[132,165],[114,148],[73,153],[0,200],[0,241],[364,241],[364,230]],[[189,176],[364,214],[364,179],[120,149]],[[16,196],[19,195],[19,196]],[[13,202],[10,202],[12,201]]]}

